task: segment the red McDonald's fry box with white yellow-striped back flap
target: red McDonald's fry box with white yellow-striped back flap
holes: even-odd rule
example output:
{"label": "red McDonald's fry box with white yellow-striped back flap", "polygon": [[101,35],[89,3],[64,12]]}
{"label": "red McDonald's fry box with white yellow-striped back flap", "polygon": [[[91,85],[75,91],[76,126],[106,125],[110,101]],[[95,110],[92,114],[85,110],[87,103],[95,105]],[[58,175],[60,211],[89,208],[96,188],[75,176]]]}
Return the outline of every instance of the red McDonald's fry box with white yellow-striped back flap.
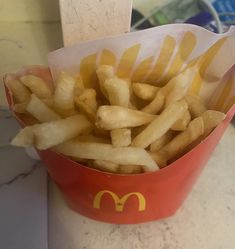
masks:
{"label": "red McDonald's fry box with white yellow-striped back flap", "polygon": [[[226,119],[200,144],[167,167],[152,173],[118,175],[88,168],[52,150],[38,151],[68,205],[89,218],[134,224],[173,215],[190,193],[235,113],[235,29],[216,35],[193,25],[166,25],[117,37],[83,42],[49,54],[55,80],[59,71],[80,73],[87,85],[96,82],[95,67],[109,64],[133,81],[168,81],[187,67],[195,68],[190,91]],[[44,67],[9,74],[5,82],[27,73],[52,84]],[[11,93],[6,88],[10,108]],[[14,114],[22,126],[30,120]]]}

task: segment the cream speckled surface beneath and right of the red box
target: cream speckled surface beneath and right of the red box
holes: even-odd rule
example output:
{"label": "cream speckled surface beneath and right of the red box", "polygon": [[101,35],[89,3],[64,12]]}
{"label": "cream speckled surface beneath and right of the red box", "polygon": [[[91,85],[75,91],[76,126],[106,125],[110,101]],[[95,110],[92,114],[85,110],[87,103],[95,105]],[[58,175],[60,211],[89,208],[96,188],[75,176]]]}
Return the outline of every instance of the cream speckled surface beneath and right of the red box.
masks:
{"label": "cream speckled surface beneath and right of the red box", "polygon": [[70,210],[50,185],[50,249],[234,249],[235,123],[176,215],[137,225],[96,222]]}

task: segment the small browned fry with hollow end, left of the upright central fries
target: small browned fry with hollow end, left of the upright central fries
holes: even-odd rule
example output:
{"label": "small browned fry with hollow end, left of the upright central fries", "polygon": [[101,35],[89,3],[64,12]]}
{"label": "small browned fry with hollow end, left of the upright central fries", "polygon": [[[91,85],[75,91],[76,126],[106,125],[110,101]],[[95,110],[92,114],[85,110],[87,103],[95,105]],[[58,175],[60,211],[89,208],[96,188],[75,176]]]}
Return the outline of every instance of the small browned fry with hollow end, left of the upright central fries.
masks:
{"label": "small browned fry with hollow end, left of the upright central fries", "polygon": [[83,92],[74,98],[79,110],[92,121],[95,120],[97,111],[96,91],[92,88],[84,89]]}

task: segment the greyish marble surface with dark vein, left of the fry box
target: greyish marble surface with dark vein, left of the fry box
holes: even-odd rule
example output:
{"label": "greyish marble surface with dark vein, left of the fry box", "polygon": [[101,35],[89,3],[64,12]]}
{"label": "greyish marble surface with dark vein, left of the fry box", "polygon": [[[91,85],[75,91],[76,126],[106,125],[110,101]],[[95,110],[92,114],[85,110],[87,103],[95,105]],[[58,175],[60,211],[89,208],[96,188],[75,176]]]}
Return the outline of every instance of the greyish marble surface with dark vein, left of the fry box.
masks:
{"label": "greyish marble surface with dark vein, left of the fry box", "polygon": [[0,248],[47,249],[47,174],[23,148],[8,146],[18,129],[0,110]]}

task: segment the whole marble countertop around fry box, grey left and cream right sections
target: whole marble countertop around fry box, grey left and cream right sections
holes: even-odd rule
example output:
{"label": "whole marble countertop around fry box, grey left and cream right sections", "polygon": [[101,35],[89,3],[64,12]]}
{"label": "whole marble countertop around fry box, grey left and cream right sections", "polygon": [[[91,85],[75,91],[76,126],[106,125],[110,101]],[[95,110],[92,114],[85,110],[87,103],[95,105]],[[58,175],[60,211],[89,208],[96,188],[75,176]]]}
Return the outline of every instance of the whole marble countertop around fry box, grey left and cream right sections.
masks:
{"label": "whole marble countertop around fry box, grey left and cream right sections", "polygon": [[[1,143],[7,144],[18,125],[6,113],[0,124]],[[192,193],[174,216],[137,225],[106,224],[75,213],[51,181],[47,217],[46,174],[41,163],[21,148],[1,148],[1,247],[234,249],[234,138],[235,123],[228,127]]]}

